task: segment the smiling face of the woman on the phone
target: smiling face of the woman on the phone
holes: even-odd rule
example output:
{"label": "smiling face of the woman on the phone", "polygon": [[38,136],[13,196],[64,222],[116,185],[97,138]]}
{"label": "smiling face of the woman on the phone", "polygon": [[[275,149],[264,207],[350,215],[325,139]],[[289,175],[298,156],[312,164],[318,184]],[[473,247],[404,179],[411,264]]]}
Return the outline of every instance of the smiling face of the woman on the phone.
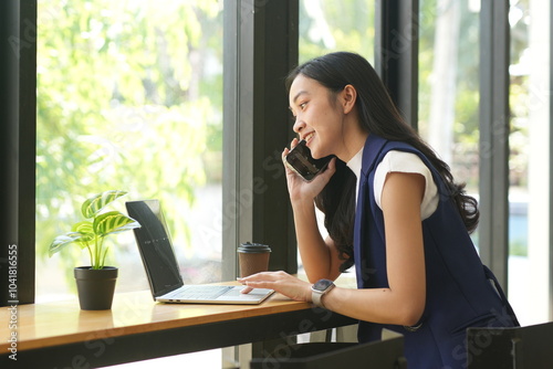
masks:
{"label": "smiling face of the woman on the phone", "polygon": [[355,98],[355,88],[351,85],[333,93],[302,74],[295,77],[290,87],[290,109],[295,117],[293,129],[305,139],[314,158],[334,154],[347,161],[361,149],[357,143],[349,141],[359,129]]}

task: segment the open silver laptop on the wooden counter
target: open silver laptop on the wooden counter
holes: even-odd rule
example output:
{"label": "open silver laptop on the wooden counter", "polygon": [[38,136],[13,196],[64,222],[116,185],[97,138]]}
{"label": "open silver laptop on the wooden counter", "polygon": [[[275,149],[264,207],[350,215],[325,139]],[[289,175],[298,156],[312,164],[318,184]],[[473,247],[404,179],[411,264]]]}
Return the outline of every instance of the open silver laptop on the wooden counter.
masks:
{"label": "open silver laptop on the wooden counter", "polygon": [[134,229],[136,243],[148,276],[154,299],[163,303],[260,304],[273,291],[243,286],[185,285],[158,200],[127,201],[128,215],[140,223]]}

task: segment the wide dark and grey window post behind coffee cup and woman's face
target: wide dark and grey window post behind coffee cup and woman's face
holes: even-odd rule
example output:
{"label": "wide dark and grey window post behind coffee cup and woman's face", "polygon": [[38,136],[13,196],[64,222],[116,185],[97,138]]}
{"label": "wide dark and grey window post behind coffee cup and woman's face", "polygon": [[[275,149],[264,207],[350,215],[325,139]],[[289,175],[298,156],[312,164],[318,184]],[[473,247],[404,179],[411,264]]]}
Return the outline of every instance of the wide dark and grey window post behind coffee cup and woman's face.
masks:
{"label": "wide dark and grey window post behind coffee cup and woman's face", "polygon": [[225,6],[223,277],[238,275],[236,247],[248,241],[272,246],[270,270],[296,273],[280,152],[293,137],[284,78],[298,64],[299,1]]}

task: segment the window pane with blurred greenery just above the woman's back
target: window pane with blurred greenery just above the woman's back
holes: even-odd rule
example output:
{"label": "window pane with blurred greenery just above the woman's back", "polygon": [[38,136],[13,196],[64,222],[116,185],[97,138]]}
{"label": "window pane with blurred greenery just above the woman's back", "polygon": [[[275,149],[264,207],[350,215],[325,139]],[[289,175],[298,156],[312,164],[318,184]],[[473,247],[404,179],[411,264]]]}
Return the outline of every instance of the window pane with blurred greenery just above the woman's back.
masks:
{"label": "window pane with blurred greenery just above the woman's back", "polygon": [[420,135],[478,192],[479,11],[473,1],[420,2]]}

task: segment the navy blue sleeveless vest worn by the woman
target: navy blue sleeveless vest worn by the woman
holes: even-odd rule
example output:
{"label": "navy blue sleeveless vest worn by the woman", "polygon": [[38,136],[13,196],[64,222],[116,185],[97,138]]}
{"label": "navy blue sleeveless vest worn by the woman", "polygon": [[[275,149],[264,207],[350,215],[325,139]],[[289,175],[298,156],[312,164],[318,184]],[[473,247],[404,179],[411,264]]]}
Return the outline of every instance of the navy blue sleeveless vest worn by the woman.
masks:
{"label": "navy blue sleeveless vest worn by the woman", "polygon": [[422,221],[426,263],[426,306],[414,327],[359,321],[359,342],[380,339],[382,328],[405,336],[410,369],[466,368],[467,327],[512,327],[519,323],[495,277],[472,244],[445,182],[429,160],[413,146],[371,134],[363,166],[355,214],[354,257],[358,288],[388,287],[384,217],[374,198],[377,165],[389,150],[416,154],[431,170],[438,187],[435,213]]}

